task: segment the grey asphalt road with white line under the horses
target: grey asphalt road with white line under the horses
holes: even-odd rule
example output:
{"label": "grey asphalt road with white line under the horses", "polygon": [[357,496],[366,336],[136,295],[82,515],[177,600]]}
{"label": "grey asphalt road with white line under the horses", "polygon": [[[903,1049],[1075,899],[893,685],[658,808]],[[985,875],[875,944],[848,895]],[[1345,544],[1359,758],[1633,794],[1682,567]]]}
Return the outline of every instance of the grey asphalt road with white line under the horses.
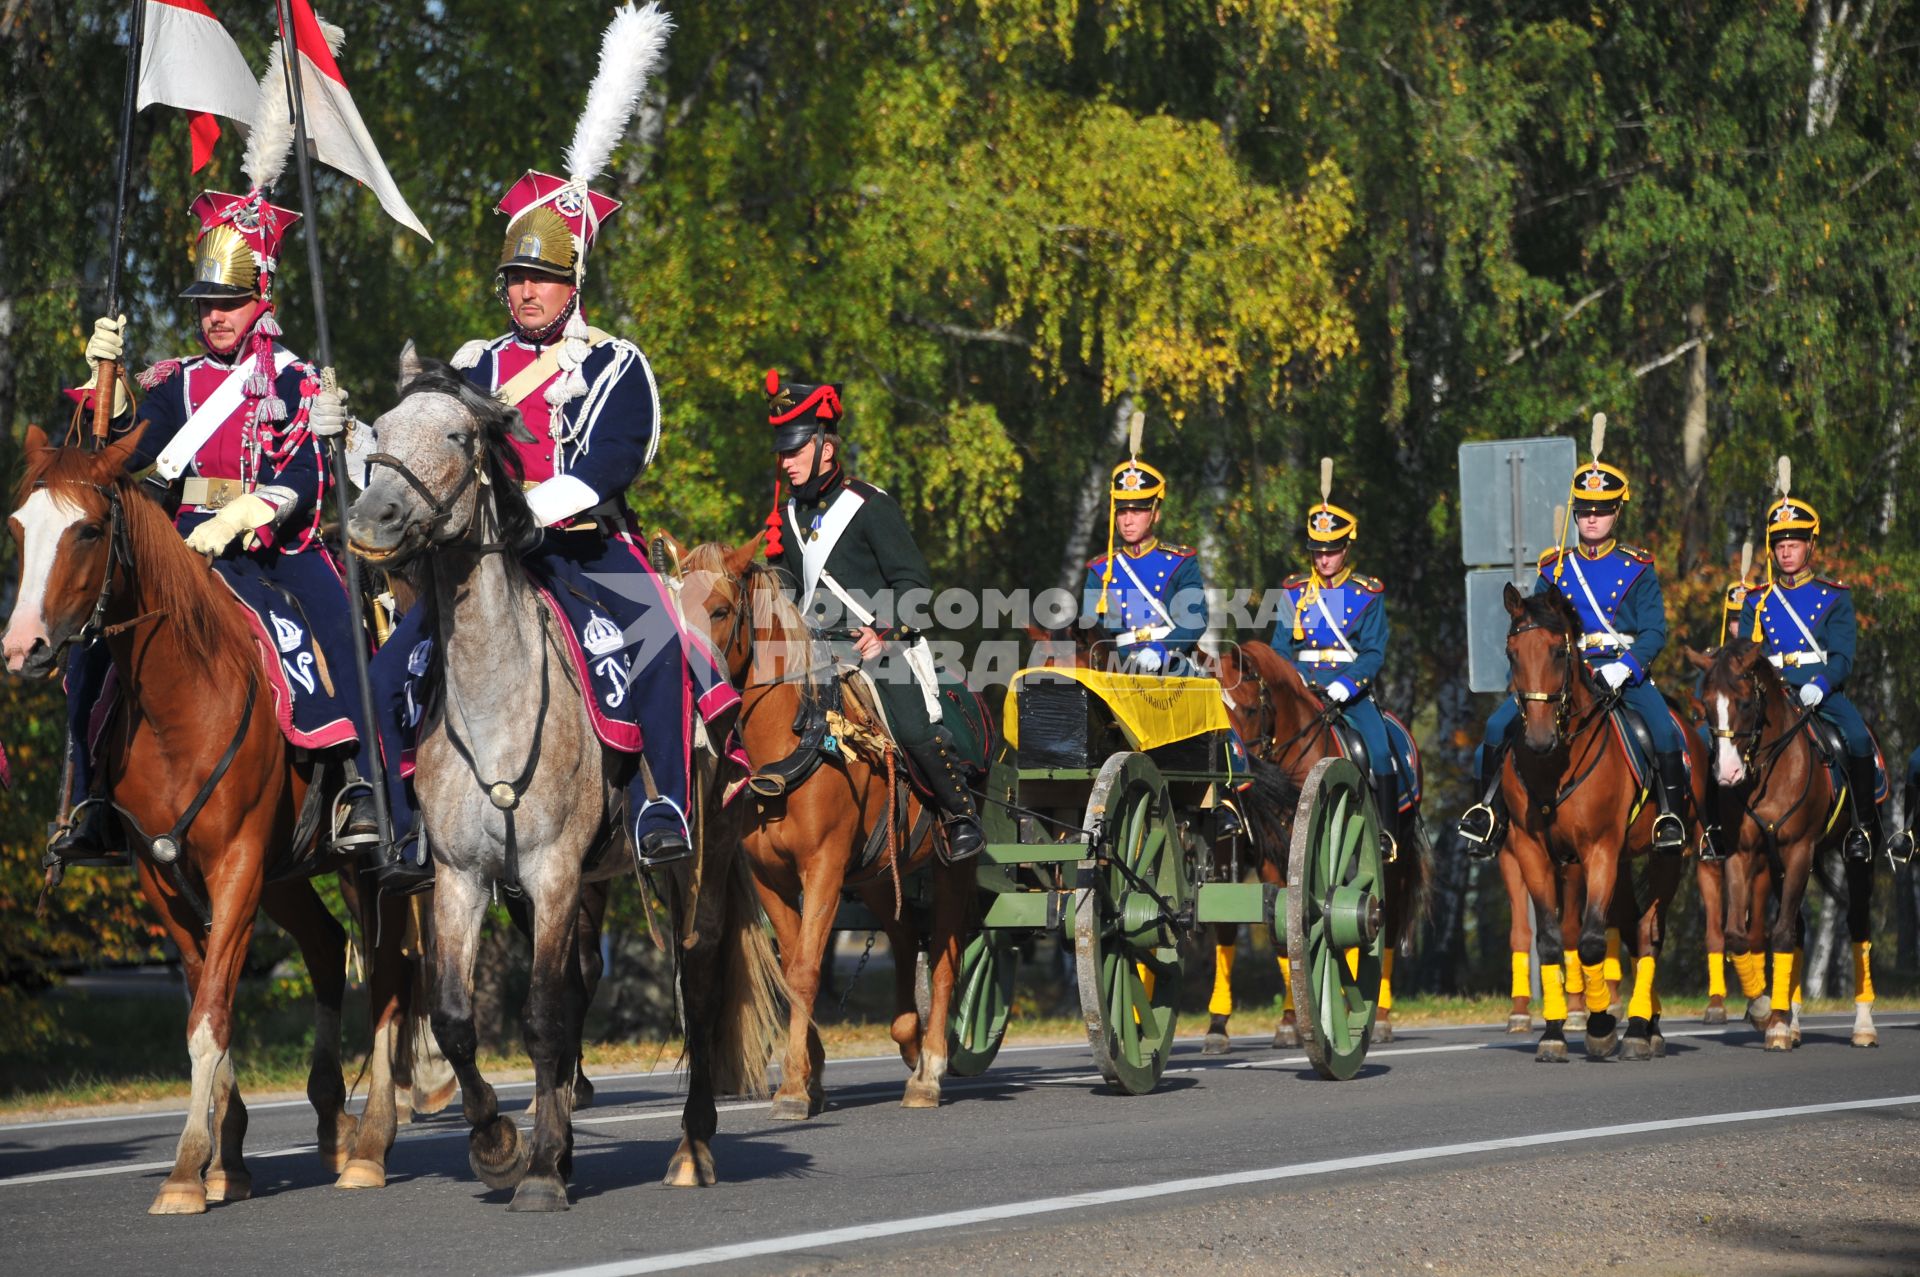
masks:
{"label": "grey asphalt road with white line under the horses", "polygon": [[253,1200],[184,1219],[146,1216],[179,1114],[0,1125],[0,1271],[1920,1271],[1920,1016],[1880,1025],[1855,1050],[1814,1018],[1766,1056],[1674,1022],[1665,1060],[1565,1066],[1415,1029],[1350,1083],[1183,1043],[1150,1096],[1108,1093],[1083,1047],[1010,1048],[939,1112],[899,1108],[897,1060],[829,1062],[814,1121],[722,1112],[705,1191],[657,1183],[678,1077],[607,1077],[561,1216],[472,1179],[457,1106],[363,1193],[330,1187],[305,1104],[255,1106]]}

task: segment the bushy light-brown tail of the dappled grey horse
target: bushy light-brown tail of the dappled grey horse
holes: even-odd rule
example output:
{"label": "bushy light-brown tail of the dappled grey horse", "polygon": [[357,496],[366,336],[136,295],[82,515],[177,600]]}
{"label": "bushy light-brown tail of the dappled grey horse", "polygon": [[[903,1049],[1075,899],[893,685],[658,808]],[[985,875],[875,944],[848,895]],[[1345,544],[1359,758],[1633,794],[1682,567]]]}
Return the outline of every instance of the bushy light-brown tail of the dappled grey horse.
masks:
{"label": "bushy light-brown tail of the dappled grey horse", "polygon": [[760,918],[760,897],[743,851],[728,856],[720,910],[720,999],[712,1024],[716,1095],[768,1095],[774,1047],[785,1037],[787,979]]}

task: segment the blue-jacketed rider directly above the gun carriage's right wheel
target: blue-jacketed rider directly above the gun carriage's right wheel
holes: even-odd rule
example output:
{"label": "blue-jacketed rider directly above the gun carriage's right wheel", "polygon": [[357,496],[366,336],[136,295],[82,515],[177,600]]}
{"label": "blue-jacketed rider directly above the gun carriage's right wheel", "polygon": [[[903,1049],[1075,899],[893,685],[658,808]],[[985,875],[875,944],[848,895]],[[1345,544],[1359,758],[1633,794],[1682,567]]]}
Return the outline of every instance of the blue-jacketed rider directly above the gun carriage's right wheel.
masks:
{"label": "blue-jacketed rider directly above the gun carriage's right wheel", "polygon": [[[1340,707],[1346,724],[1359,732],[1373,770],[1380,828],[1392,830],[1400,812],[1400,776],[1394,770],[1386,718],[1373,699],[1373,680],[1386,664],[1386,586],[1348,565],[1359,518],[1332,505],[1332,459],[1321,459],[1321,499],[1308,509],[1304,536],[1311,566],[1294,572],[1281,590],[1286,607],[1273,624],[1273,651],[1319,693]],[[1388,837],[1392,837],[1388,833]]]}

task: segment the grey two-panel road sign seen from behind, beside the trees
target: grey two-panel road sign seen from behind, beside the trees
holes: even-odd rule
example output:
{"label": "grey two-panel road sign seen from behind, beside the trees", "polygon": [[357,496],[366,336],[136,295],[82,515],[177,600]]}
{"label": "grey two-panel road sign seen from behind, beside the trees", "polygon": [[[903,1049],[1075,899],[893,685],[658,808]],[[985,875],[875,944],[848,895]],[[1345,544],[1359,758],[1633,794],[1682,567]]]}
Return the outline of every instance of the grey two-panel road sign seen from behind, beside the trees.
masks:
{"label": "grey two-panel road sign seen from behind, beside the trees", "polygon": [[[1572,482],[1571,438],[1459,446],[1459,557],[1467,572],[1467,686],[1507,689],[1507,609],[1500,591],[1530,591],[1540,555],[1559,543],[1553,511]],[[1488,565],[1501,566],[1488,566]]]}

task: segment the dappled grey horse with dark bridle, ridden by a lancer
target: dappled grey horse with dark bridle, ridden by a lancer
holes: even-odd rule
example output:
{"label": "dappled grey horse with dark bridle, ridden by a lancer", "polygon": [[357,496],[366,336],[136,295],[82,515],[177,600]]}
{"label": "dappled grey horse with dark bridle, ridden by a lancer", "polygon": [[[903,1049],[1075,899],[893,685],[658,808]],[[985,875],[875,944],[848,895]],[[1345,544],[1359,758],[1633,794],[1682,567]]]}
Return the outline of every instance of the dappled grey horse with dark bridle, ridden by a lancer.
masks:
{"label": "dappled grey horse with dark bridle, ridden by a lancer", "polygon": [[[518,565],[540,536],[511,447],[530,440],[518,411],[451,367],[422,363],[411,342],[399,394],[374,422],[380,451],[348,540],[371,563],[407,565],[417,607],[432,609],[438,682],[422,695],[413,783],[436,866],[434,1035],[461,1079],[474,1173],[513,1187],[511,1210],[566,1210],[588,1002],[576,960],[582,883],[632,872],[616,801],[634,760],[593,734],[547,607]],[[657,879],[674,916],[685,1016],[684,1137],[666,1173],[682,1187],[714,1183],[714,1095],[766,1089],[780,1024],[780,966],[753,879],[737,833],[724,837],[714,814],[716,803],[695,814],[707,826],[695,830],[701,855]],[[584,872],[595,853],[597,868]],[[495,883],[518,883],[530,914],[532,1148],[474,1064],[474,952]]]}

